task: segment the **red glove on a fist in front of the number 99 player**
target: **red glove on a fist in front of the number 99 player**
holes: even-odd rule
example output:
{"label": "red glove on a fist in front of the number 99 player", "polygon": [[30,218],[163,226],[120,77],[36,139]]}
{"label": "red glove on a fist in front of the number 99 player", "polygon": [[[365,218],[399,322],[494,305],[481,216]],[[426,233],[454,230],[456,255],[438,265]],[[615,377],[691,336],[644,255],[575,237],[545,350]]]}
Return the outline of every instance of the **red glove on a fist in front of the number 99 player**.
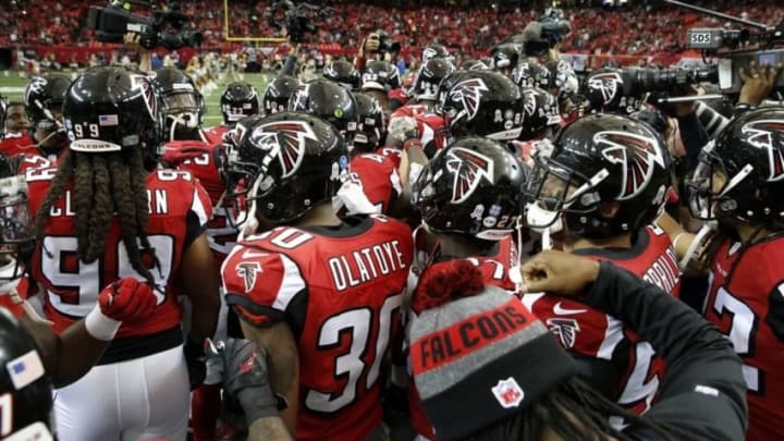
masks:
{"label": "red glove on a fist in front of the number 99 player", "polygon": [[158,298],[149,283],[123,278],[100,292],[98,304],[105,316],[118,321],[133,321],[149,316]]}

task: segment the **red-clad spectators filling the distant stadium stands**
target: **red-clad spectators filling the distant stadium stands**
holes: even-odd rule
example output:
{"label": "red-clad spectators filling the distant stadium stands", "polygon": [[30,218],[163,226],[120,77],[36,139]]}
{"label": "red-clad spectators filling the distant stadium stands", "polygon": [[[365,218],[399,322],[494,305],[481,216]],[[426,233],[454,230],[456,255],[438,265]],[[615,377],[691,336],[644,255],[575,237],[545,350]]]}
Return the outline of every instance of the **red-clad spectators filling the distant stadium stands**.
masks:
{"label": "red-clad spectators filling the distant stadium stands", "polygon": [[[279,32],[267,23],[264,11],[269,2],[231,2],[229,33],[232,36],[274,37]],[[461,48],[464,53],[478,57],[483,50],[522,27],[535,14],[520,9],[501,11],[490,5],[469,9],[420,7],[395,9],[390,5],[336,1],[334,14],[320,26],[314,41],[334,45],[354,52],[362,36],[383,28],[404,47],[417,50],[429,42]],[[94,45],[93,33],[86,28],[87,0],[52,2],[38,8],[27,0],[3,0],[0,26],[0,47],[17,45]],[[765,2],[710,2],[722,12],[773,25],[784,19],[781,0]],[[238,45],[224,40],[223,1],[195,0],[183,2],[183,11],[192,17],[189,26],[204,33],[205,48],[235,51]],[[610,54],[672,54],[685,50],[684,38],[690,27],[722,27],[725,23],[706,19],[674,7],[657,8],[626,5],[624,8],[565,9],[575,33],[564,42],[564,52]],[[252,21],[252,15],[257,20]],[[640,17],[645,20],[640,20]],[[369,19],[369,20],[368,20]],[[61,63],[63,60],[59,60]]]}

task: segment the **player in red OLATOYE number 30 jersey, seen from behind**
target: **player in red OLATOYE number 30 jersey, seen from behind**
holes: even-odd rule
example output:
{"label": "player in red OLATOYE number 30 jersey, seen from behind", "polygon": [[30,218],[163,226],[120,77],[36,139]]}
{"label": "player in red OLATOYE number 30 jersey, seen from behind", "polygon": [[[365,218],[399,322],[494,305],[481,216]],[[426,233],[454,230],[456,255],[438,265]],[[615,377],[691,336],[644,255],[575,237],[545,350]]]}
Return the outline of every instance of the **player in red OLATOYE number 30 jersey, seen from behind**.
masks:
{"label": "player in red OLATOYE number 30 jersey, seen from behind", "polygon": [[223,264],[226,302],[269,352],[272,390],[298,440],[383,436],[381,375],[400,331],[411,229],[335,216],[347,155],[334,126],[284,112],[258,121],[229,162],[250,188],[254,217]]}

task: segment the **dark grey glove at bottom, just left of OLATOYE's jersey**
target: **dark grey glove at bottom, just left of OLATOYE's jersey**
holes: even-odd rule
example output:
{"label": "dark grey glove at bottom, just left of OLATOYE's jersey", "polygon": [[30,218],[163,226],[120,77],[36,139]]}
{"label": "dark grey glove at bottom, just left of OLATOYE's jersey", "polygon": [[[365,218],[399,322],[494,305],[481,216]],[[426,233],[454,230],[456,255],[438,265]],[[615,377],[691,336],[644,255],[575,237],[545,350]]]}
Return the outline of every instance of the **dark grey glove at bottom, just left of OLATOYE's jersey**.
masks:
{"label": "dark grey glove at bottom, just left of OLATOYE's jersey", "polygon": [[277,416],[285,407],[283,399],[270,388],[267,351],[254,342],[230,338],[210,345],[208,357],[210,369],[222,372],[225,393],[242,405],[248,425],[258,418]]}

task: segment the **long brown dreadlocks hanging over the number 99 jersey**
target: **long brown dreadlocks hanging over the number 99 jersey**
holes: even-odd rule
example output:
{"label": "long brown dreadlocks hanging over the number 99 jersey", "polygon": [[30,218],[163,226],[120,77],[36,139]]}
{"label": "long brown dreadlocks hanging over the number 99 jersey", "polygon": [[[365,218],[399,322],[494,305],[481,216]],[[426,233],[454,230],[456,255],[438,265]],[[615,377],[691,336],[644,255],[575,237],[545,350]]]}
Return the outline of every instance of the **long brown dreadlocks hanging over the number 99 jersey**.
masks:
{"label": "long brown dreadlocks hanging over the number 99 jersey", "polygon": [[138,149],[101,155],[69,151],[38,210],[36,237],[44,236],[52,206],[73,182],[79,260],[91,264],[103,256],[117,212],[131,266],[155,286],[155,278],[143,262],[143,253],[149,253],[158,264],[146,232],[149,218],[147,174]]}

